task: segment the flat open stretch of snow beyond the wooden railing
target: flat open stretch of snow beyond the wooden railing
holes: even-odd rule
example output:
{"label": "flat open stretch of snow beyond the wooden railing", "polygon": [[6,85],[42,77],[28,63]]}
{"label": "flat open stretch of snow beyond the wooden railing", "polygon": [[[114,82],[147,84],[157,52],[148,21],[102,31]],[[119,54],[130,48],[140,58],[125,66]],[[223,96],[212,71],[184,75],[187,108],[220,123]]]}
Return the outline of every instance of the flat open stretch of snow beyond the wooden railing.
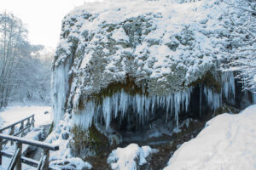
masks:
{"label": "flat open stretch of snow beyond the wooden railing", "polygon": [[[44,114],[48,111],[48,114]],[[0,111],[0,127],[8,126],[11,123],[18,122],[27,116],[35,114],[35,126],[50,124],[51,107],[49,106],[11,106],[4,111]]]}

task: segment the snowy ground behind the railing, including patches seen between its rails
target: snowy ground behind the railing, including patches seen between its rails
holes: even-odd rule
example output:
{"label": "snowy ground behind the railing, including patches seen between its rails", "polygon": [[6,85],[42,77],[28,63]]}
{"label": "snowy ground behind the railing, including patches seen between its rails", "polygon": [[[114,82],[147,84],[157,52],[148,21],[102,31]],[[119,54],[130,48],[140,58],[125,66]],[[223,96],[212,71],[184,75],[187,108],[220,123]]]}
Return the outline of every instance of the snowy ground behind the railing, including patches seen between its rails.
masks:
{"label": "snowy ground behind the railing, including patches seen between its rails", "polygon": [[[45,111],[48,111],[48,114],[44,114]],[[51,107],[49,106],[11,106],[8,107],[5,111],[0,112],[0,127],[8,126],[11,123],[18,122],[27,116],[35,114],[35,128],[32,129],[30,133],[26,135],[27,139],[38,140],[40,133],[43,133],[43,125],[50,124],[51,121]],[[26,123],[26,122],[25,122]],[[4,133],[4,132],[3,132]],[[28,145],[23,144],[22,151],[27,149]],[[14,146],[9,146],[7,144],[5,149],[9,151],[14,151]],[[9,158],[3,156],[3,165],[0,166],[0,170],[7,169],[9,165]],[[32,169],[25,164],[22,164],[22,169]]]}

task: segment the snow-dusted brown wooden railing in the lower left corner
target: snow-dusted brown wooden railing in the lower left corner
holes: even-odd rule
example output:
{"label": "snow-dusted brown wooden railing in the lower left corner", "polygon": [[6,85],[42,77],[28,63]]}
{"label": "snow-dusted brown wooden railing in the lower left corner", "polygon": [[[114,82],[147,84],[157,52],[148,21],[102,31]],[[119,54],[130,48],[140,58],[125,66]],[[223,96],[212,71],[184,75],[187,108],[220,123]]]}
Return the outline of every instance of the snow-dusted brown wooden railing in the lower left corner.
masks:
{"label": "snow-dusted brown wooden railing in the lower left corner", "polygon": [[[26,122],[26,126],[24,126]],[[48,170],[49,169],[49,150],[59,150],[58,145],[48,144],[32,139],[24,139],[17,137],[21,133],[23,136],[24,131],[29,127],[34,127],[34,115],[26,117],[19,122],[15,122],[7,127],[0,129],[0,166],[2,165],[2,156],[9,157],[11,160],[9,162],[8,170],[21,170],[21,163],[25,163],[31,167],[38,167],[38,170]],[[20,124],[18,132],[15,133],[15,126]],[[3,131],[10,128],[9,134],[3,134]],[[9,153],[8,151],[3,150],[3,144],[6,144],[8,141],[11,141],[11,144],[15,142],[16,150],[15,153]],[[35,161],[25,156],[21,156],[22,144],[29,144],[43,149],[43,154],[40,161]]]}

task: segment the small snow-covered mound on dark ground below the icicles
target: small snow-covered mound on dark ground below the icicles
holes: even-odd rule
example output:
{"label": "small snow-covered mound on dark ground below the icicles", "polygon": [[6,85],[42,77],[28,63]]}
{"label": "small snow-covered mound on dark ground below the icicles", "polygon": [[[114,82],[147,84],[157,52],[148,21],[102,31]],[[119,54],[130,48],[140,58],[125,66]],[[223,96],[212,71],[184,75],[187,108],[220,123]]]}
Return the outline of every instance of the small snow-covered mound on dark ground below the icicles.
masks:
{"label": "small snow-covered mound on dark ground below the icicles", "polygon": [[142,166],[147,163],[146,158],[149,154],[158,150],[151,149],[149,146],[138,146],[129,144],[125,148],[117,148],[108,156],[108,164],[113,170],[136,170],[138,165]]}

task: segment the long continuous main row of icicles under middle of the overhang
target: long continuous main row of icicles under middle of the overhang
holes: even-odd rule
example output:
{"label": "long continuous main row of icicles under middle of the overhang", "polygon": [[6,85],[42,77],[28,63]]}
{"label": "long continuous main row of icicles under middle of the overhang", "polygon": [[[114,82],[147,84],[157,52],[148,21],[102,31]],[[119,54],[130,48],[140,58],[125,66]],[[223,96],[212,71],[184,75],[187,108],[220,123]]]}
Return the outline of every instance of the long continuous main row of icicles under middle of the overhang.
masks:
{"label": "long continuous main row of icicles under middle of the overhang", "polygon": [[[96,109],[94,101],[90,101],[94,105],[89,103],[84,104],[84,108],[87,109],[80,112],[83,116],[93,116],[93,113],[95,113],[96,116],[94,120],[98,121],[100,119],[101,123],[105,122],[106,129],[108,129],[112,119],[119,117],[119,113],[121,114],[119,122],[122,123],[125,118],[128,117],[129,119],[129,115],[125,115],[127,111],[132,111],[136,114],[137,126],[139,126],[148,122],[149,116],[153,116],[156,109],[166,108],[166,122],[168,121],[168,115],[170,114],[172,117],[172,112],[174,111],[174,119],[178,127],[178,114],[181,111],[188,111],[191,92],[192,88],[189,88],[183,92],[177,92],[176,94],[166,96],[152,95],[148,97],[141,94],[133,96],[126,94],[125,91],[122,90],[121,92],[113,94],[111,97],[105,97],[102,100],[102,105],[97,105]],[[102,122],[102,120],[104,121]],[[78,124],[82,123],[83,120],[76,120],[74,122]],[[127,122],[129,123],[129,120]],[[83,125],[83,127],[90,127],[91,119],[87,119],[84,123],[86,125]]]}

